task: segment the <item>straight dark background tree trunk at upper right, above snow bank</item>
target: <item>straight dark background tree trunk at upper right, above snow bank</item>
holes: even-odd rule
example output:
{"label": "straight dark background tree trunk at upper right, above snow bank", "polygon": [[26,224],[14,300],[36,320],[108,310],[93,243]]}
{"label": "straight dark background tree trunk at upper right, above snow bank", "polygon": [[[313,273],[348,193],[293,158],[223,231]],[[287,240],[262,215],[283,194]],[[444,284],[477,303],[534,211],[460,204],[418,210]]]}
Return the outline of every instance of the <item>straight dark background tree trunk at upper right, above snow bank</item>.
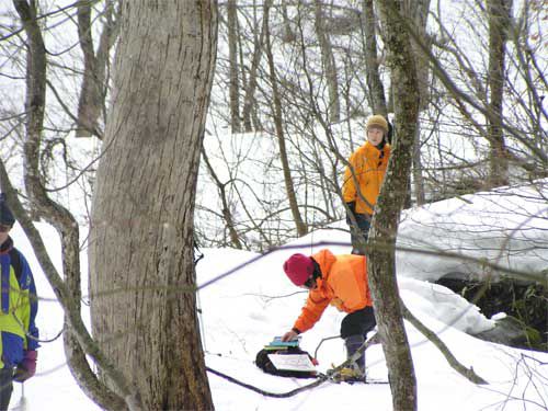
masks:
{"label": "straight dark background tree trunk at upper right, above snow bank", "polygon": [[509,183],[509,161],[502,133],[502,99],[504,95],[504,44],[507,38],[512,0],[489,0],[489,113],[488,137],[490,152],[490,185]]}

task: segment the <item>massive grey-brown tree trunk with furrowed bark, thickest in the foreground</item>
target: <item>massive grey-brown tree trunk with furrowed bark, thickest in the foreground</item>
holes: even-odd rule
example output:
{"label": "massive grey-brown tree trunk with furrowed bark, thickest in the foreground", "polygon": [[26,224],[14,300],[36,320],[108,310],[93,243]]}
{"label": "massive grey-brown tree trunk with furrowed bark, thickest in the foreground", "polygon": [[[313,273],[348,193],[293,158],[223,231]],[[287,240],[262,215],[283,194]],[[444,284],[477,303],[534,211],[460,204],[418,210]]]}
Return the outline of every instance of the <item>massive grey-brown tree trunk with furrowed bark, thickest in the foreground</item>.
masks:
{"label": "massive grey-brown tree trunk with furrowed bark, thickest in the foreground", "polygon": [[215,1],[124,2],[90,241],[92,327],[147,410],[210,410],[194,199]]}

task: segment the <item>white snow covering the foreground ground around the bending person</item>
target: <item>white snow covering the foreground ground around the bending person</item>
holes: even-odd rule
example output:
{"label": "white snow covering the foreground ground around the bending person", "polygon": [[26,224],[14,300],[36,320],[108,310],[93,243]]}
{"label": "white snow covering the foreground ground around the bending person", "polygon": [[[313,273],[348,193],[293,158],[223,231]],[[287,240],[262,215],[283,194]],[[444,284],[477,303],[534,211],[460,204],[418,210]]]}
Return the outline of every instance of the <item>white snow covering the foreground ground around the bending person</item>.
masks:
{"label": "white snow covering the foreground ground around the bending person", "polygon": [[[486,203],[488,197],[467,196],[466,202],[452,199],[411,210],[402,220],[399,243],[401,240],[410,242],[413,233],[423,247],[438,246],[447,247],[453,252],[476,252],[477,244],[481,243],[489,243],[491,249],[496,250],[499,243],[495,240],[499,239],[500,244],[506,247],[504,261],[509,266],[540,272],[548,265],[547,218],[546,209],[543,210],[546,205],[535,203],[537,206],[534,212],[540,218],[532,220],[523,213],[522,219],[514,220],[509,216],[515,217],[516,209],[530,212],[534,203],[530,196],[526,198],[509,193],[489,204]],[[512,212],[495,221],[486,222],[486,212],[492,212],[496,206],[511,208]],[[443,235],[444,226],[434,225],[437,220],[450,220],[446,231],[466,236],[459,239],[459,236]],[[528,222],[530,227],[527,226]],[[472,230],[470,224],[478,227],[478,230]],[[490,229],[484,229],[486,224]],[[55,231],[45,225],[38,225],[38,228],[50,255],[58,264],[59,241]],[[498,230],[495,235],[494,228]],[[516,228],[520,230],[515,230]],[[525,250],[525,254],[517,254],[516,259],[522,259],[523,255],[526,258],[514,261],[514,253],[507,248],[523,243],[510,241],[509,232],[513,232],[512,238],[523,239],[526,236],[529,240],[534,239],[534,244],[544,241],[545,247]],[[62,313],[55,301],[48,300],[54,297],[53,292],[19,227],[15,227],[12,237],[27,255],[39,295],[44,298],[37,319],[42,338],[52,339],[62,328]],[[317,242],[347,242],[349,237],[338,229],[320,230],[288,246],[301,247],[298,251],[309,254],[319,251],[319,247],[313,246]],[[470,247],[470,241],[476,247]],[[413,243],[416,246],[419,242]],[[336,246],[331,247],[331,250],[344,253],[349,252],[349,247]],[[306,298],[306,294],[294,287],[282,271],[283,261],[297,250],[283,249],[261,259],[256,259],[258,254],[251,252],[229,249],[204,249],[202,252],[205,258],[196,267],[198,284],[206,284],[232,267],[256,260],[199,292],[201,326],[207,365],[271,392],[285,392],[310,383],[306,379],[266,375],[253,364],[255,354],[264,344],[292,327]],[[473,252],[472,255],[476,255]],[[85,254],[82,263],[85,264]],[[515,350],[471,336],[475,332],[492,327],[492,321],[484,318],[476,306],[469,305],[449,289],[425,281],[454,271],[454,260],[442,256],[400,252],[400,293],[408,308],[438,333],[465,366],[473,367],[489,385],[473,385],[457,374],[437,349],[407,323],[419,384],[419,410],[547,410],[548,353]],[[313,354],[323,338],[339,334],[343,316],[335,309],[328,308],[320,322],[302,335],[301,347]],[[326,341],[318,350],[318,368],[323,372],[344,358],[340,339]],[[367,351],[367,366],[370,378],[386,380],[387,368],[379,345]],[[217,410],[391,410],[388,385],[326,383],[295,397],[276,399],[252,392],[213,374],[209,374],[209,384]],[[24,393],[21,385],[15,385],[10,409],[84,411],[99,408],[78,388],[66,366],[62,343],[57,339],[43,344],[37,375],[25,383]]]}

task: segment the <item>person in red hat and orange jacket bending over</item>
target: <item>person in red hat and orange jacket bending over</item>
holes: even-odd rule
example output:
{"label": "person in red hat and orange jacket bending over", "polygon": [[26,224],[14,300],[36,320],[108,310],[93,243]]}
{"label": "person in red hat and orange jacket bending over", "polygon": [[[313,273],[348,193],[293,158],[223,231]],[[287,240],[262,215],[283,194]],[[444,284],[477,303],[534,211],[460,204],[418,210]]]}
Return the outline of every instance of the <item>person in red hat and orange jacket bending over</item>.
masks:
{"label": "person in red hat and orange jacket bending over", "polygon": [[[293,254],[284,263],[284,272],[293,284],[309,289],[309,293],[299,318],[282,340],[294,340],[310,330],[328,305],[332,305],[347,312],[341,323],[341,338],[347,357],[355,354],[376,326],[365,259],[355,254],[334,255],[327,249],[311,256]],[[365,378],[365,354],[353,368],[357,379]]]}

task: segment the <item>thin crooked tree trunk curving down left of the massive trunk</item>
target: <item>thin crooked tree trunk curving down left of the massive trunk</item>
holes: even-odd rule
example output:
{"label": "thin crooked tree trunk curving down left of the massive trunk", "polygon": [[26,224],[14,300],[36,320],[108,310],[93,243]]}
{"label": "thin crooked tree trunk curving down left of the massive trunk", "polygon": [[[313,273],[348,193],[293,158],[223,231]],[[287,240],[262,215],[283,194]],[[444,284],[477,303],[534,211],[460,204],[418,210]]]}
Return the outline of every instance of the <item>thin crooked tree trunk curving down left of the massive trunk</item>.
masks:
{"label": "thin crooked tree trunk curving down left of the massive trunk", "polygon": [[[19,206],[16,207],[20,208],[18,219],[31,239],[48,282],[52,284],[64,308],[65,323],[67,326],[67,332],[64,334],[64,344],[70,372],[80,388],[93,401],[104,408],[115,407],[121,409],[124,407],[122,399],[100,384],[85,358],[85,354],[90,354],[93,358],[101,362],[101,354],[94,355],[96,353],[92,353],[91,345],[93,343],[80,317],[80,236],[78,222],[69,210],[48,197],[39,171],[46,105],[47,59],[42,31],[36,21],[36,4],[34,2],[27,3],[25,0],[15,0],[13,4],[25,28],[28,47],[25,101],[27,117],[24,144],[25,189],[33,209],[39,217],[54,226],[60,236],[65,281],[56,273],[53,264],[48,264],[49,259],[47,254],[42,252],[43,256],[41,256],[41,252],[37,250],[37,247],[39,248],[42,244],[38,241],[39,236],[22,207]],[[2,180],[8,182],[8,175],[5,174]],[[119,381],[117,380],[117,383]]]}

